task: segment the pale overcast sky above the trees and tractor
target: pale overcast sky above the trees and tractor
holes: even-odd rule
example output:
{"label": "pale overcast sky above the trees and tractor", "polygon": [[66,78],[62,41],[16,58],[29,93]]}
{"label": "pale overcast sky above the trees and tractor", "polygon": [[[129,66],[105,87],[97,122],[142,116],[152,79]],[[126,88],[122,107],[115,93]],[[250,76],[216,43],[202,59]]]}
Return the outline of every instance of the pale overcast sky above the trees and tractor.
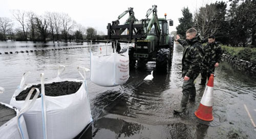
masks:
{"label": "pale overcast sky above the trees and tractor", "polygon": [[[223,0],[226,1],[226,0]],[[116,20],[117,17],[133,7],[135,17],[140,20],[145,18],[146,11],[157,5],[158,17],[164,17],[174,20],[174,26],[169,28],[169,32],[176,30],[179,25],[178,18],[182,17],[181,9],[188,7],[190,12],[194,14],[196,9],[205,3],[215,3],[210,0],[0,0],[0,17],[13,18],[11,10],[19,9],[24,11],[33,11],[39,15],[49,12],[64,12],[74,19],[77,23],[85,27],[93,27],[97,31],[106,34],[106,26],[109,22]],[[150,16],[151,17],[151,16]],[[127,19],[127,15],[123,17]],[[122,21],[122,20],[121,20]],[[120,22],[122,24],[122,22]]]}

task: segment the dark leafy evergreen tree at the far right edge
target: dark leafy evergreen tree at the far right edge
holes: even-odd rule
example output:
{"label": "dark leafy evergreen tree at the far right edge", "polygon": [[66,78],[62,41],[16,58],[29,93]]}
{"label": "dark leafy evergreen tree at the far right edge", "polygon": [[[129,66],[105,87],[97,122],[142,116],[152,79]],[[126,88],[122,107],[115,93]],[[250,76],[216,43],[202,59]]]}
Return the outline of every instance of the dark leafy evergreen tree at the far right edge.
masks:
{"label": "dark leafy evergreen tree at the far right edge", "polygon": [[229,44],[247,47],[249,43],[255,47],[256,38],[256,1],[233,0],[227,14],[229,22]]}

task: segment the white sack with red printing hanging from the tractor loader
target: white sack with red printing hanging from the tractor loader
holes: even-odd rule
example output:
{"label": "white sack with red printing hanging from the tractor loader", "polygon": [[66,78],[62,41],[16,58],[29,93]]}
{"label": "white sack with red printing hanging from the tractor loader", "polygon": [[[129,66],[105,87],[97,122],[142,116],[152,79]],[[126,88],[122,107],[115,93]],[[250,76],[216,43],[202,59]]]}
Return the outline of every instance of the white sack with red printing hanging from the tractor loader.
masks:
{"label": "white sack with red printing hanging from the tractor loader", "polygon": [[[128,49],[127,49],[128,50]],[[117,86],[129,79],[128,51],[97,57],[91,52],[91,81],[100,86]]]}

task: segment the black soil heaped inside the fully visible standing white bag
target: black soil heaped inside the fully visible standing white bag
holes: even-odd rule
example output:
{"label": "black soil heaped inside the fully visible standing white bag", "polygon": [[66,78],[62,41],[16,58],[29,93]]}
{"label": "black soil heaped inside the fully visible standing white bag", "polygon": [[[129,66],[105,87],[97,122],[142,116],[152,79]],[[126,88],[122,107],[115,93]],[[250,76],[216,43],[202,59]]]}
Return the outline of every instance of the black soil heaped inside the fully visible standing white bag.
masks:
{"label": "black soil heaped inside the fully visible standing white bag", "polygon": [[[80,88],[81,85],[82,85],[81,82],[70,82],[70,81],[53,82],[53,83],[45,84],[45,95],[56,97],[56,96],[74,94]],[[17,101],[25,100],[29,94],[29,91],[33,87],[38,88],[41,94],[41,84],[32,85],[26,90],[23,90],[22,92],[20,92],[20,94],[16,96],[16,100]],[[36,90],[33,91],[33,94],[31,95],[30,99],[34,97],[35,93],[36,93]],[[40,97],[41,96],[39,95],[37,98],[40,98]]]}

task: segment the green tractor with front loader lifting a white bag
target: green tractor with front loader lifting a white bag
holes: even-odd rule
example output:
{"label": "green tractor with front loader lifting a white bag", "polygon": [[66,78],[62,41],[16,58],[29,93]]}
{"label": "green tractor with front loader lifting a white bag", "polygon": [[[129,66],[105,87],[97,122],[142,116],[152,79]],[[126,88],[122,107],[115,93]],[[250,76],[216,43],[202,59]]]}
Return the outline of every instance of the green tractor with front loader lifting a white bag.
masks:
{"label": "green tractor with front loader lifting a white bag", "polygon": [[[129,18],[123,25],[119,25],[119,19],[126,13]],[[151,18],[148,16],[153,13]],[[157,71],[166,71],[173,57],[174,37],[169,34],[168,20],[157,17],[157,6],[148,9],[146,18],[137,20],[133,8],[128,8],[119,15],[118,19],[108,24],[108,39],[120,42],[134,42],[134,47],[129,47],[130,68],[143,67],[148,61],[156,61]],[[169,19],[169,26],[173,26],[173,20]]]}

